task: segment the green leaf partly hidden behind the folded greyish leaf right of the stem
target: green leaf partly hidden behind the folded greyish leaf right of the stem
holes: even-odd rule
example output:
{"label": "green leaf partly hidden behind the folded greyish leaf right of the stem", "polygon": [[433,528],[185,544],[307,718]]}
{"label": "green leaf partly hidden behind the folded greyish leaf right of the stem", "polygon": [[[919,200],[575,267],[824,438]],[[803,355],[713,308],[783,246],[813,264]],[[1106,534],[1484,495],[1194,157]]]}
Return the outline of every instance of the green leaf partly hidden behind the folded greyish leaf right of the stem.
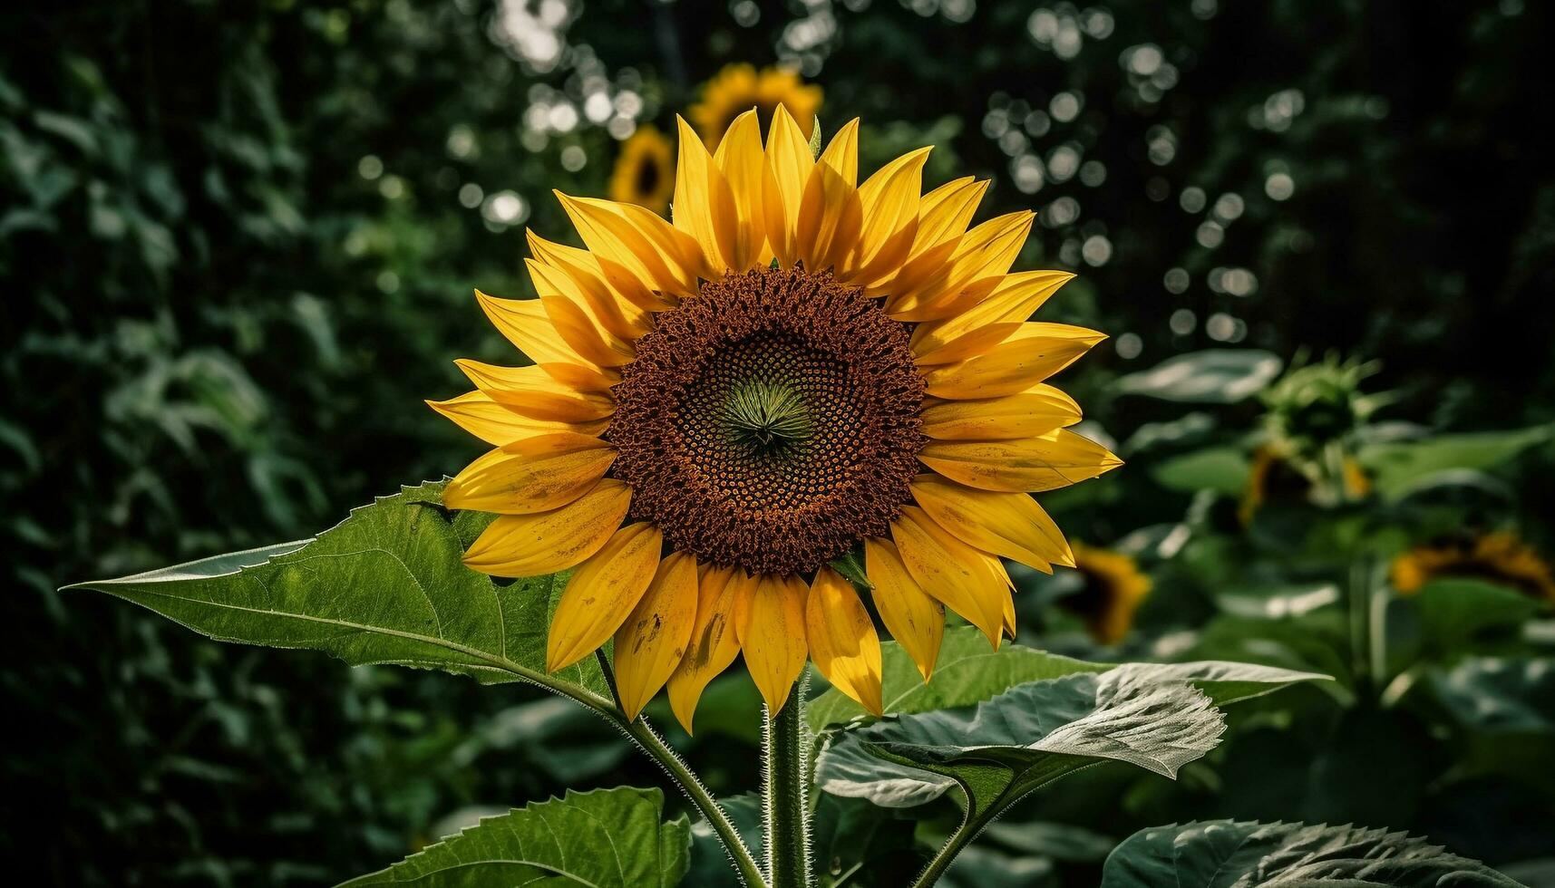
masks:
{"label": "green leaf partly hidden behind the folded greyish leaf right of the stem", "polygon": [[[945,631],[939,663],[927,683],[913,666],[913,658],[894,641],[882,644],[882,666],[885,711],[891,715],[970,706],[1029,681],[1107,672],[1116,667],[1112,663],[1087,663],[1020,644],[1005,644],[995,652],[987,644],[987,636],[972,627]],[[1152,669],[1163,678],[1197,684],[1216,704],[1269,694],[1295,681],[1328,678],[1314,672],[1221,661],[1163,664]],[[816,732],[868,717],[861,706],[835,687],[816,697],[805,714],[810,729]]]}

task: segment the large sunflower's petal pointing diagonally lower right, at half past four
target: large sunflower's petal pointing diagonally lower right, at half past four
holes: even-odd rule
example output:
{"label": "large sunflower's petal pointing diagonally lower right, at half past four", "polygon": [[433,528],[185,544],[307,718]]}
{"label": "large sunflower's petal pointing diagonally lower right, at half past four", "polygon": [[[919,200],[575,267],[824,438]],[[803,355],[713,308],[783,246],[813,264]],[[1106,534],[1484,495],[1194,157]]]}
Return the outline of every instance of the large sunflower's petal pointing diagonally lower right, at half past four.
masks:
{"label": "large sunflower's petal pointing diagonally lower right, at half past four", "polygon": [[998,558],[956,540],[916,505],[902,509],[891,538],[917,585],[983,630],[997,650],[1005,619]]}

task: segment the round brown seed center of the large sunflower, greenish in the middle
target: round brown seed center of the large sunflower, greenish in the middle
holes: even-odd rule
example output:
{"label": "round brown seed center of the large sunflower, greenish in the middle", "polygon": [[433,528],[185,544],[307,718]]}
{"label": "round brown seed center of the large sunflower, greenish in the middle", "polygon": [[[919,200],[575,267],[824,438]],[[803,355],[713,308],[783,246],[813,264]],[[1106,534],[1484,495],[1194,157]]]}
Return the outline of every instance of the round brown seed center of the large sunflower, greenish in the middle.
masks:
{"label": "round brown seed center of the large sunflower, greenish in the middle", "polygon": [[605,437],[631,518],[706,561],[813,571],[908,502],[924,381],[908,330],[826,272],[703,283],[655,317]]}

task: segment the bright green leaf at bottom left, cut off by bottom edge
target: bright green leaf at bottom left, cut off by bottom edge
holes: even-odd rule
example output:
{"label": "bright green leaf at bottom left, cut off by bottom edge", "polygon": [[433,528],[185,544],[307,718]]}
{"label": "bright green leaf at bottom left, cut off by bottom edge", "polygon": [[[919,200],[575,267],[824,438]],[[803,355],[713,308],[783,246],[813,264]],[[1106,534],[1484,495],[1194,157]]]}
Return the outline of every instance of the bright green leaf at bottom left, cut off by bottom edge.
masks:
{"label": "bright green leaf at bottom left, cut off by bottom edge", "polygon": [[568,792],[560,799],[484,818],[479,826],[341,888],[666,888],[686,876],[690,821],[681,815],[664,823],[662,812],[659,790]]}

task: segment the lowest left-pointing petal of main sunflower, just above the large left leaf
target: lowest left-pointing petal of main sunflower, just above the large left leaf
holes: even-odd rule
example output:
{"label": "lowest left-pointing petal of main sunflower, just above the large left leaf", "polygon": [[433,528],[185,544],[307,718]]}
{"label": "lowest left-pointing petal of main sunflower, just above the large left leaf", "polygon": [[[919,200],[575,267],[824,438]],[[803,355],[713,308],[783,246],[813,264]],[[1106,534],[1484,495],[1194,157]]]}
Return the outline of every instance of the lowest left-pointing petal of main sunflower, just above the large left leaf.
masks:
{"label": "lowest left-pointing petal of main sunflower, just above the large left leaf", "polygon": [[494,577],[538,577],[599,551],[631,505],[631,488],[606,477],[575,501],[538,515],[501,515],[465,552],[465,565]]}

